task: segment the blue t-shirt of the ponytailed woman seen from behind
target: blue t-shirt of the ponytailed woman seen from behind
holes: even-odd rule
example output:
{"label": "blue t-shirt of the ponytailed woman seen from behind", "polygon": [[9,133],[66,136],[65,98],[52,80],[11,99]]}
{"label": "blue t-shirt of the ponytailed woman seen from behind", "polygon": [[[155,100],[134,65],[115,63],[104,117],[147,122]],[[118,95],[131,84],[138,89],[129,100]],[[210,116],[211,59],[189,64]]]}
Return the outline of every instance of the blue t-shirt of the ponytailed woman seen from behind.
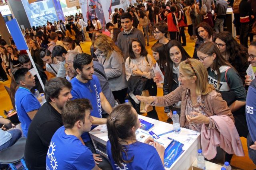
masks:
{"label": "blue t-shirt of the ponytailed woman seen from behind", "polygon": [[111,153],[110,141],[107,142],[107,153],[110,164],[114,170],[125,169],[125,170],[164,170],[164,165],[161,158],[154,147],[146,143],[135,142],[128,146],[128,158],[126,154],[122,152],[124,160],[130,160],[132,156],[134,159],[130,163],[123,163],[124,167],[118,167],[114,162]]}

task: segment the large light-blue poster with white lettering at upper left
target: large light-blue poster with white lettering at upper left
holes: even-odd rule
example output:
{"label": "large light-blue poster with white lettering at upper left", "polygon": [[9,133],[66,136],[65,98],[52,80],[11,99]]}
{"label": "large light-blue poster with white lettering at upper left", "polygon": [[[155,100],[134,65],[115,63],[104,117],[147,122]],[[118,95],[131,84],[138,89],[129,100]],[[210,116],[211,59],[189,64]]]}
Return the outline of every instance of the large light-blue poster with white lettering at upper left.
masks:
{"label": "large light-blue poster with white lettering at upper left", "polygon": [[46,25],[47,21],[58,21],[54,4],[52,0],[44,0],[28,3],[28,0],[22,0],[22,4],[28,16],[30,26]]}

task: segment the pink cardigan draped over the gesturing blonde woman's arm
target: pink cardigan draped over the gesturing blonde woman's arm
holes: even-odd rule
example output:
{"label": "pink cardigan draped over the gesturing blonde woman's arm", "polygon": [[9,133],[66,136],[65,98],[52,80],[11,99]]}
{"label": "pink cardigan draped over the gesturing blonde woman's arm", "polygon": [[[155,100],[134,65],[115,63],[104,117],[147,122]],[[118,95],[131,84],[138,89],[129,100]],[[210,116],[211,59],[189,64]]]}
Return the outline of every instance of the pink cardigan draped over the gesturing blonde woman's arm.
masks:
{"label": "pink cardigan draped over the gesturing blonde woman's arm", "polygon": [[207,129],[205,124],[201,130],[201,145],[203,155],[207,159],[216,156],[216,147],[222,148],[228,154],[244,156],[244,150],[235,124],[226,115],[210,116],[215,122],[216,129]]}

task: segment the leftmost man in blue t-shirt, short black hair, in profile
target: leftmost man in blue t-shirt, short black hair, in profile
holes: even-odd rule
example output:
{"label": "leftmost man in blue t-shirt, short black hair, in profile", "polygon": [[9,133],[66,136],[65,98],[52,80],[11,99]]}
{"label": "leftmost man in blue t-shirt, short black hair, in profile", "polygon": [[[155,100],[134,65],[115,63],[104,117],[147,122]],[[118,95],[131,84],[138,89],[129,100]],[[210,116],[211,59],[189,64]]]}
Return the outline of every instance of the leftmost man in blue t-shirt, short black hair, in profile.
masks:
{"label": "leftmost man in blue t-shirt, short black hair, in profile", "polygon": [[30,90],[36,86],[35,77],[28,68],[20,68],[14,73],[15,82],[19,88],[15,93],[15,108],[21,123],[23,135],[27,137],[28,127],[36,112],[41,107],[36,96]]}

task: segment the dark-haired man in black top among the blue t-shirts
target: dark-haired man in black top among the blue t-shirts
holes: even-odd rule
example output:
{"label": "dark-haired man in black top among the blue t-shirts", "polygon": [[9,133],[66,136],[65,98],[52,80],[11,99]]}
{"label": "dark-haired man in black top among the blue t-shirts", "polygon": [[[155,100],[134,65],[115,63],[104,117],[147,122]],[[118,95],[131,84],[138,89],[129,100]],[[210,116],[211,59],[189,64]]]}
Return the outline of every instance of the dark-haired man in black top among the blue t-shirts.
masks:
{"label": "dark-haired man in black top among the blue t-shirts", "polygon": [[46,82],[46,103],[38,110],[28,129],[25,161],[30,170],[46,169],[46,154],[53,134],[63,126],[61,111],[68,100],[72,85],[64,78],[53,78]]}

